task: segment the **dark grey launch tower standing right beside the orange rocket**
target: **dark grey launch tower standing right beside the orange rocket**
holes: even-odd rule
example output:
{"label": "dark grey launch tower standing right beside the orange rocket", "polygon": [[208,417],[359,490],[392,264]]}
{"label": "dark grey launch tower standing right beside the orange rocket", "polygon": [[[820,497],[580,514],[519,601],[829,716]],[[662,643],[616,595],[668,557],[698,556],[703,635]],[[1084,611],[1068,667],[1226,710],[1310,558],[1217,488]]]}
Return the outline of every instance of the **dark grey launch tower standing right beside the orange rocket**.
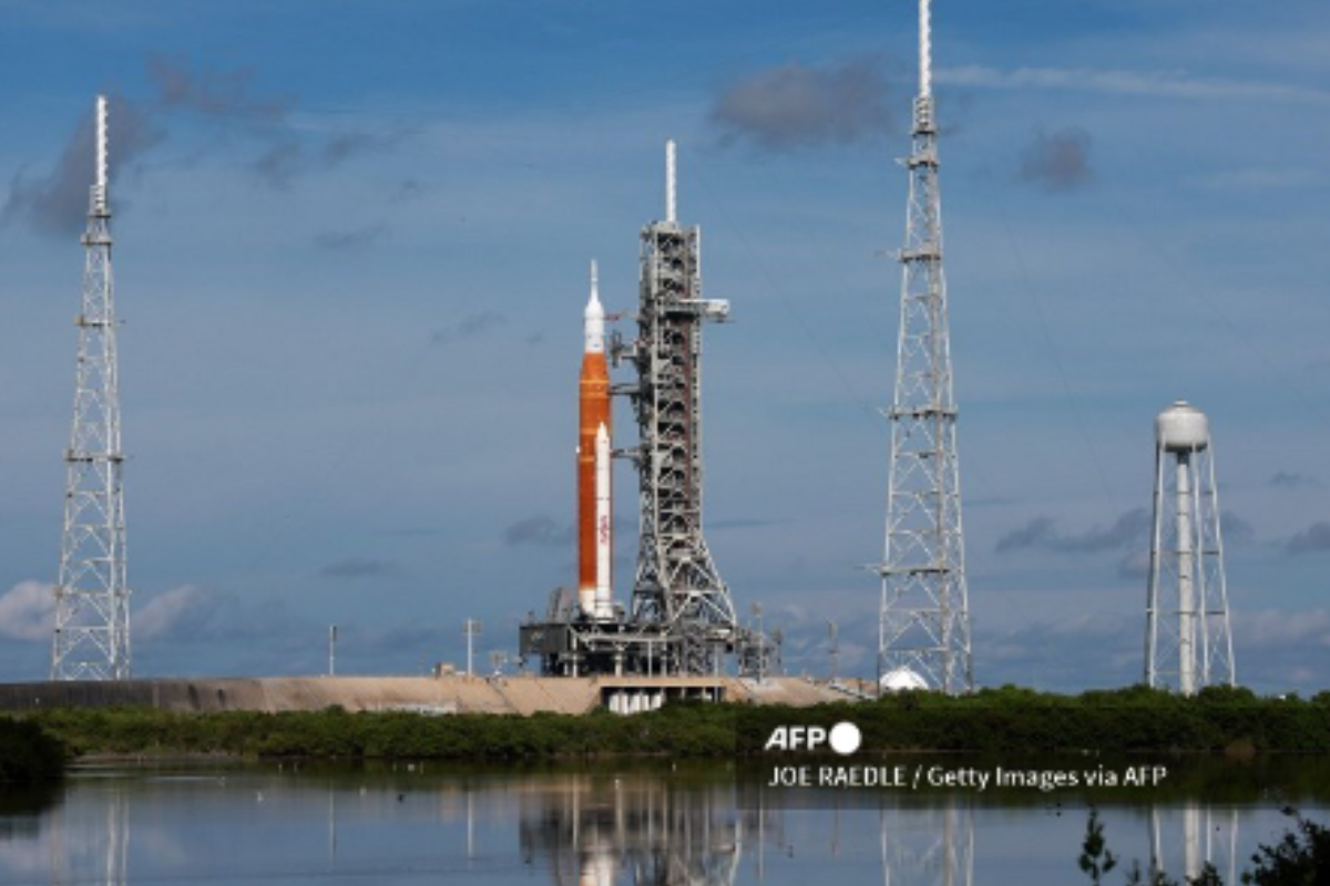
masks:
{"label": "dark grey launch tower standing right beside the orange rocket", "polygon": [[737,619],[702,537],[702,323],[724,320],[729,303],[702,298],[698,227],[674,211],[674,142],[665,145],[665,221],[641,234],[637,417],[641,538],[633,620],[670,626],[678,636],[673,669],[710,673],[733,646]]}

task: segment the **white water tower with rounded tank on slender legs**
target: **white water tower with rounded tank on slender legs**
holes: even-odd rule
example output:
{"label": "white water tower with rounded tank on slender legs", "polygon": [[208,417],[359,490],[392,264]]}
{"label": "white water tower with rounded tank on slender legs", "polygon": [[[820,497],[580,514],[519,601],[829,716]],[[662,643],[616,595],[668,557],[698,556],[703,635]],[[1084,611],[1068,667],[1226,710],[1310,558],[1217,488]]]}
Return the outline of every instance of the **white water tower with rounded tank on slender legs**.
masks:
{"label": "white water tower with rounded tank on slender legs", "polygon": [[1186,401],[1154,420],[1145,683],[1182,695],[1236,680],[1213,449],[1209,420]]}

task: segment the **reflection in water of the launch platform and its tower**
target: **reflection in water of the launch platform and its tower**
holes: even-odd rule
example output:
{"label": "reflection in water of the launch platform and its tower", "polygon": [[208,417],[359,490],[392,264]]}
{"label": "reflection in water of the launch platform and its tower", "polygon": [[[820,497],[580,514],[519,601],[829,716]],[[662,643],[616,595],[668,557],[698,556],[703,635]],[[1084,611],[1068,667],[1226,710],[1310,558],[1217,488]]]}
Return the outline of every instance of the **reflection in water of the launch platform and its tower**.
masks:
{"label": "reflection in water of the launch platform and its tower", "polygon": [[730,886],[743,841],[729,785],[672,788],[646,773],[573,776],[521,794],[519,840],[559,886]]}

